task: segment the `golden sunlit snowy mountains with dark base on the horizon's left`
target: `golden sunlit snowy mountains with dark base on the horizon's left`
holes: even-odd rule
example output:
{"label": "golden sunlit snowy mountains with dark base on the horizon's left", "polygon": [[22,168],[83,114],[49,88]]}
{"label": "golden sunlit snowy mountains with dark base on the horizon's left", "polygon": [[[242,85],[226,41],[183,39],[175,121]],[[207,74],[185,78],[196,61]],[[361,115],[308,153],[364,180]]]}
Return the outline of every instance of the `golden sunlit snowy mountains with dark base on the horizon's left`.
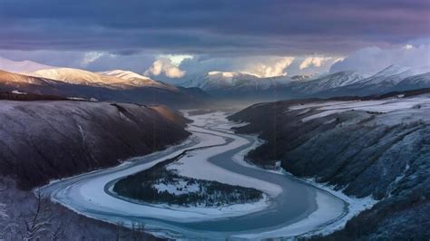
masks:
{"label": "golden sunlit snowy mountains with dark base on the horizon's left", "polygon": [[0,71],[0,92],[55,95],[69,99],[166,104],[177,108],[201,107],[210,96],[196,88],[175,87],[134,72],[87,72],[44,69],[28,75]]}

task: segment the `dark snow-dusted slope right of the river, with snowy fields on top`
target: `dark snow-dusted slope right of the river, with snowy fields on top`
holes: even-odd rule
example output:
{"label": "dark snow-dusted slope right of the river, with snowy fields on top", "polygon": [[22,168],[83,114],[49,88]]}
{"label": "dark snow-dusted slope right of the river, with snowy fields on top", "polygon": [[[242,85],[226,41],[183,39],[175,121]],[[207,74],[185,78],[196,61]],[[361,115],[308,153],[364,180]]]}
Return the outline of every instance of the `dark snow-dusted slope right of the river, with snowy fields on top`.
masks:
{"label": "dark snow-dusted slope right of the river, with snowy fields on top", "polygon": [[424,94],[382,102],[278,101],[253,105],[230,119],[249,122],[237,131],[267,140],[249,160],[261,166],[280,160],[298,177],[380,200],[343,230],[315,238],[428,240],[429,100]]}

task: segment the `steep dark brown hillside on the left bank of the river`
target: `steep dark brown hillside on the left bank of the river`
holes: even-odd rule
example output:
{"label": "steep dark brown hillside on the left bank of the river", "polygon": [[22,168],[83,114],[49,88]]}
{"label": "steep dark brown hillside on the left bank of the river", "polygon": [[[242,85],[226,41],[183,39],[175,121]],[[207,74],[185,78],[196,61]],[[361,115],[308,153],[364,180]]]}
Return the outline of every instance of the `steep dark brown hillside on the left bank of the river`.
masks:
{"label": "steep dark brown hillside on the left bank of the river", "polygon": [[161,106],[1,101],[0,173],[34,188],[184,140],[186,119]]}

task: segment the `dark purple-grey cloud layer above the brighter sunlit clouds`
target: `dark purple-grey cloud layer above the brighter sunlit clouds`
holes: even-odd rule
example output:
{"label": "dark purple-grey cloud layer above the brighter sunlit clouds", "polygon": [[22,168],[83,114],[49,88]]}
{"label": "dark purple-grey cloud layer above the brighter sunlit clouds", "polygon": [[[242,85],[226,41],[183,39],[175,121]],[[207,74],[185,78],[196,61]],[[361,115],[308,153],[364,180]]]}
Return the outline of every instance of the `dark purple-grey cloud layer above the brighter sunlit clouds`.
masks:
{"label": "dark purple-grey cloud layer above the brighter sunlit clouds", "polygon": [[347,53],[430,33],[430,1],[0,0],[0,48]]}

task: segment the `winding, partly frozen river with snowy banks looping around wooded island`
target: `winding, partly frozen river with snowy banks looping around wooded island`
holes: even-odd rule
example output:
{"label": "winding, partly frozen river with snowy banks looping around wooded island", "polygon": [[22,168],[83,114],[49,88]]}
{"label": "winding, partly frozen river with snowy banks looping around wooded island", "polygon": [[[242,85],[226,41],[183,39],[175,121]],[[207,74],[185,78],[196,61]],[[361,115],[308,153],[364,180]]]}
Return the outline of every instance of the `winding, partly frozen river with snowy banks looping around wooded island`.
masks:
{"label": "winding, partly frozen river with snowy banks looping around wooded island", "polygon": [[[261,239],[328,233],[373,204],[249,165],[243,156],[260,141],[254,136],[234,134],[230,130],[234,123],[223,112],[188,118],[194,120],[188,128],[192,136],[180,145],[130,159],[115,168],[55,180],[42,192],[83,216],[127,227],[142,222],[147,232],[179,239]],[[185,177],[256,188],[265,194],[264,198],[224,207],[181,207],[139,203],[112,192],[119,178],[149,169],[187,149],[194,150],[167,169]]]}

